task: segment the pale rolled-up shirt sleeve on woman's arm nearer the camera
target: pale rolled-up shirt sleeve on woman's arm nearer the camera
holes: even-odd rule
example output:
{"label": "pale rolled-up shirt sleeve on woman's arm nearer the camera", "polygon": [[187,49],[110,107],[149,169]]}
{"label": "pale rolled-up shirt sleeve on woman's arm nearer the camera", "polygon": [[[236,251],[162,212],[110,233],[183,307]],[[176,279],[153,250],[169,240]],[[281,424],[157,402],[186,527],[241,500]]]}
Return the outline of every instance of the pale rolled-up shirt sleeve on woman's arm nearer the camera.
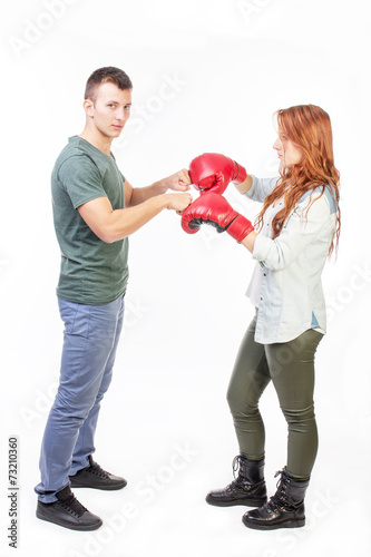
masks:
{"label": "pale rolled-up shirt sleeve on woman's arm nearer the camera", "polygon": [[275,240],[263,234],[256,236],[253,258],[267,268],[284,268],[315,240],[324,226],[330,226],[329,217],[326,197],[312,195],[296,205]]}

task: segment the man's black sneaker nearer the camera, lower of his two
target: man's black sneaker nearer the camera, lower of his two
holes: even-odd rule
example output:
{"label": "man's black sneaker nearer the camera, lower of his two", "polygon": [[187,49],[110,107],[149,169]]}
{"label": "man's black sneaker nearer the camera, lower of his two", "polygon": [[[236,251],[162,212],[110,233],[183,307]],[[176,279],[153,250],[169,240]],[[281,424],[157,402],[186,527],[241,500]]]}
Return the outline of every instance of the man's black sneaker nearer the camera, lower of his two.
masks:
{"label": "man's black sneaker nearer the camera, lower of his two", "polygon": [[70,530],[96,530],[102,521],[89,512],[74,496],[69,486],[56,494],[58,501],[38,501],[36,516],[41,520],[64,526]]}

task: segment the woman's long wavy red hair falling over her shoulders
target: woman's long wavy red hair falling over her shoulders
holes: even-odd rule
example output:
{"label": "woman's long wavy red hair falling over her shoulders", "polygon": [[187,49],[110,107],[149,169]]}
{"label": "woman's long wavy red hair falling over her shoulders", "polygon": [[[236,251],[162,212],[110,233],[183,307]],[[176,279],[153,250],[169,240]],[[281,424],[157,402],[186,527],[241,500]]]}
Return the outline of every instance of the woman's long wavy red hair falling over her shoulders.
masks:
{"label": "woman's long wavy red hair falling over her shoulders", "polygon": [[284,135],[301,150],[299,164],[280,168],[280,179],[274,190],[264,199],[263,209],[257,216],[256,225],[262,227],[263,216],[270,205],[284,197],[284,208],[273,218],[273,240],[276,238],[290,213],[294,209],[303,194],[320,188],[322,194],[328,188],[336,205],[336,227],[329,255],[338,245],[340,234],[339,180],[340,175],[334,166],[332,148],[332,129],[329,115],[314,105],[300,105],[277,110],[279,134]]}

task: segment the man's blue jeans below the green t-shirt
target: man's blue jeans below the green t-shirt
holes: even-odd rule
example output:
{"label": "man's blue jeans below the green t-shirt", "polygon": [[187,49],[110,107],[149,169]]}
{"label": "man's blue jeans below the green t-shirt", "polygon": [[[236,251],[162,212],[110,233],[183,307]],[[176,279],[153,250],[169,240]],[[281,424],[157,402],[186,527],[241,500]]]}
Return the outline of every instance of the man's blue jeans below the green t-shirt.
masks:
{"label": "man's blue jeans below the green t-shirt", "polygon": [[124,295],[105,305],[58,303],[65,339],[59,388],[41,446],[41,482],[35,488],[42,502],[56,501],[68,476],[89,465],[124,319]]}

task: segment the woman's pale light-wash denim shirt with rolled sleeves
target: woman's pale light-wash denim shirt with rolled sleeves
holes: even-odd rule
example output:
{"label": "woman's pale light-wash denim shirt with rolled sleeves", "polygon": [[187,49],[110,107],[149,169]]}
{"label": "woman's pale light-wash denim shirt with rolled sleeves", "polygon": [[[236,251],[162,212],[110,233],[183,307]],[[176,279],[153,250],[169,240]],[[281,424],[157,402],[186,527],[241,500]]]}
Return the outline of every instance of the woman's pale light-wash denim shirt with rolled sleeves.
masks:
{"label": "woman's pale light-wash denim shirt with rolled sleeves", "polygon": [[[263,202],[276,186],[275,178],[256,178],[245,194]],[[287,342],[307,329],[325,333],[326,313],[321,283],[336,226],[336,206],[329,188],[304,194],[272,240],[272,221],[283,204],[267,208],[257,234],[253,258],[256,268],[246,295],[258,307],[255,341]]]}

